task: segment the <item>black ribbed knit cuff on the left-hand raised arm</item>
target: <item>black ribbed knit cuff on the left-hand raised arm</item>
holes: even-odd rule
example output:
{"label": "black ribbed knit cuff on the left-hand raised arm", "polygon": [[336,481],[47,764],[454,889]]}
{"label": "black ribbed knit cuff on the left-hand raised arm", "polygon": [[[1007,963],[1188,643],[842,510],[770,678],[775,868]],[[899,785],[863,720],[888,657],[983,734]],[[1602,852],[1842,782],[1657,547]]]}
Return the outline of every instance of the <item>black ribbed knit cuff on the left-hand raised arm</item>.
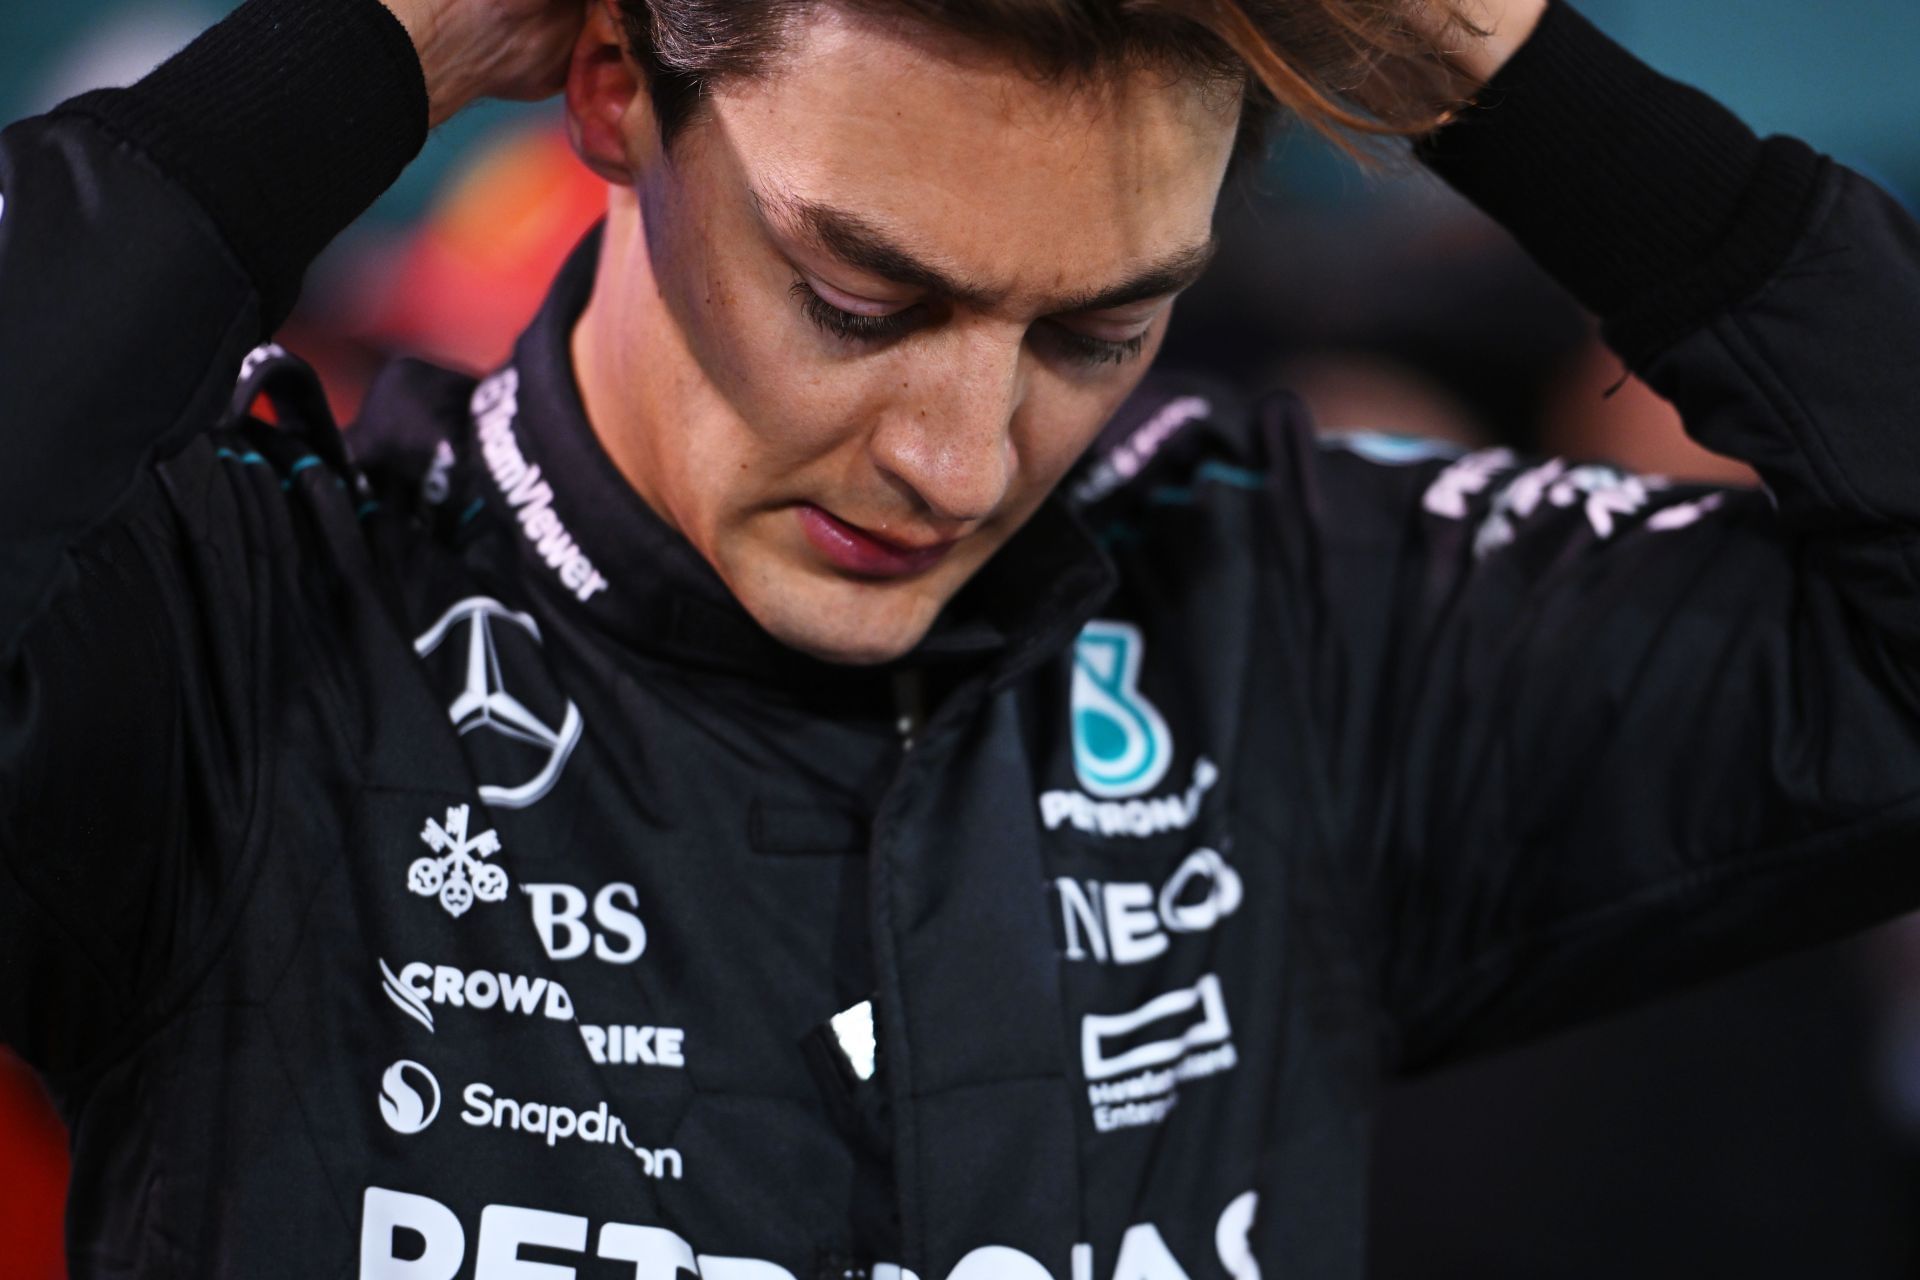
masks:
{"label": "black ribbed knit cuff on the left-hand raised arm", "polygon": [[248,0],[132,88],[83,94],[86,115],[179,182],[259,290],[269,330],[307,263],[426,142],[426,81],[378,0]]}

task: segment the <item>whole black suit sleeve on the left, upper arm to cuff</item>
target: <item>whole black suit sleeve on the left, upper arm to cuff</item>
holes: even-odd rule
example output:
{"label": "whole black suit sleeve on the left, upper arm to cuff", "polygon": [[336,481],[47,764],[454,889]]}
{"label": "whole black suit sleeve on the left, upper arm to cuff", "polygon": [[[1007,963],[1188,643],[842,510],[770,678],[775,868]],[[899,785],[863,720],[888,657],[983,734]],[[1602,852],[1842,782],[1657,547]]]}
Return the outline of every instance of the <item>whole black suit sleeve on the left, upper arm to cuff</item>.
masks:
{"label": "whole black suit sleeve on the left, upper arm to cuff", "polygon": [[75,1015],[148,994],[236,867],[298,547],[207,432],[424,130],[384,6],[252,0],[0,132],[0,1038],[42,1065],[98,1048]]}

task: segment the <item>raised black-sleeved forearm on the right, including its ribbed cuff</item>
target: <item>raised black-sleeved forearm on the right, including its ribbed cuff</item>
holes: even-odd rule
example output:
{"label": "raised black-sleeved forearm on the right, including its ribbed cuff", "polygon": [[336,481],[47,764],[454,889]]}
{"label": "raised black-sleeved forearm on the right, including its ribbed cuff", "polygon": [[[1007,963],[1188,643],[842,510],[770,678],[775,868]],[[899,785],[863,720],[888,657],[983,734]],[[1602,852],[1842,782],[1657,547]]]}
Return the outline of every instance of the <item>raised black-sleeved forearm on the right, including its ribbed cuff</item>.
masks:
{"label": "raised black-sleeved forearm on the right, including its ribbed cuff", "polygon": [[1751,462],[1857,616],[1920,651],[1920,228],[1555,6],[1425,144],[1601,317],[1688,432]]}

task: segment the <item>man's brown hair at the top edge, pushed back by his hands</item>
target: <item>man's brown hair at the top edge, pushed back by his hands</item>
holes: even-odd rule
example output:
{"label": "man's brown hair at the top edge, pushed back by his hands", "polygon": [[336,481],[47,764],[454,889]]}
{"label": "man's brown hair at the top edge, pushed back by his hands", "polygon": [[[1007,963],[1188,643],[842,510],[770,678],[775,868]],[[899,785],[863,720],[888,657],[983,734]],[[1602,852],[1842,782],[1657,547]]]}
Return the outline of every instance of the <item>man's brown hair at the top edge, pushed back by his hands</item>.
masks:
{"label": "man's brown hair at the top edge, pushed back by his hands", "polygon": [[1475,33],[1459,0],[616,0],[660,134],[831,2],[977,40],[1041,77],[1158,65],[1238,83],[1244,146],[1292,117],[1357,154],[1361,138],[1442,125],[1471,88],[1446,52]]}

